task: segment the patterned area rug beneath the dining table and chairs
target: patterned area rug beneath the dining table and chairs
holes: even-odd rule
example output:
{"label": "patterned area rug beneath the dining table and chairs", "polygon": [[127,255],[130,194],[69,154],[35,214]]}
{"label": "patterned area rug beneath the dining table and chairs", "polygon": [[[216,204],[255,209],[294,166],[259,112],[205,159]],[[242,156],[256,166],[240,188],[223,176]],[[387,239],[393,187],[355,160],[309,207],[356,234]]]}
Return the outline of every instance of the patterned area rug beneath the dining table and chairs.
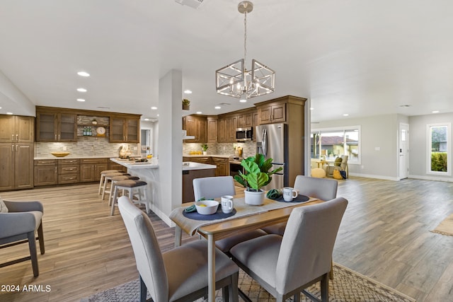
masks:
{"label": "patterned area rug beneath the dining table and chairs", "polygon": [[[379,282],[369,279],[357,272],[334,263],[334,278],[329,282],[329,301],[335,302],[371,302],[371,301],[401,301],[414,302],[410,298],[398,291],[379,284]],[[239,288],[249,297],[251,301],[270,302],[275,301],[256,281],[239,271]],[[319,283],[311,286],[309,292],[321,298]],[[148,294],[148,297],[149,294]],[[242,301],[241,299],[239,299]],[[94,294],[88,298],[81,299],[81,302],[134,302],[139,301],[139,280],[130,281],[113,289]],[[197,302],[202,302],[198,299]],[[216,302],[222,301],[222,292],[217,291]],[[289,299],[292,301],[292,299]],[[311,301],[301,295],[301,301]]]}

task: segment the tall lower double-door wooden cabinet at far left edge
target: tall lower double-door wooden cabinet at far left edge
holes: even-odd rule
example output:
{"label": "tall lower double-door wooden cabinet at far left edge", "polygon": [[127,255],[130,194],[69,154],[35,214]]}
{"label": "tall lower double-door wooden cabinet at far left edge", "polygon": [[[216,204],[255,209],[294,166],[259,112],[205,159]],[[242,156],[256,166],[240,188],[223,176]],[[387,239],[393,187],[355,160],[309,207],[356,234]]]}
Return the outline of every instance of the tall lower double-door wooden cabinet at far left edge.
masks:
{"label": "tall lower double-door wooden cabinet at far left edge", "polygon": [[33,144],[0,143],[0,190],[33,188]]}

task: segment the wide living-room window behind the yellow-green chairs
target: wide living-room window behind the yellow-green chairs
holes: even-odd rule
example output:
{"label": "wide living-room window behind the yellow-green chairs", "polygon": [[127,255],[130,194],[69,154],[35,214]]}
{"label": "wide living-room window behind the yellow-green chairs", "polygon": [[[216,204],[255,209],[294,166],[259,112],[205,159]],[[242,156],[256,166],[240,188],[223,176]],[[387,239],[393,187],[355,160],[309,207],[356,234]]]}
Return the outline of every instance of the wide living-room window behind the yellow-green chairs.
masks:
{"label": "wide living-room window behind the yellow-green chairs", "polygon": [[311,130],[311,158],[335,161],[342,155],[348,163],[360,163],[360,126]]}

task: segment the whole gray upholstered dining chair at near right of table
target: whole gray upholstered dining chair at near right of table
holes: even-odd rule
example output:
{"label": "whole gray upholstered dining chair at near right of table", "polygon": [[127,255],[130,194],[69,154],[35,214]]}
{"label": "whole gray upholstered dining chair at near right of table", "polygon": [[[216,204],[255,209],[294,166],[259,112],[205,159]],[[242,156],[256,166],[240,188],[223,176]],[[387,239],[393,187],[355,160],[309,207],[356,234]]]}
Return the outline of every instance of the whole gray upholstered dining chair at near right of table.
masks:
{"label": "whole gray upholstered dining chair at near right of table", "polygon": [[[328,301],[328,274],[341,219],[343,197],[292,210],[285,235],[269,234],[239,243],[230,253],[243,271],[275,296],[277,302],[321,281],[321,301]],[[246,296],[241,296],[247,301]]]}

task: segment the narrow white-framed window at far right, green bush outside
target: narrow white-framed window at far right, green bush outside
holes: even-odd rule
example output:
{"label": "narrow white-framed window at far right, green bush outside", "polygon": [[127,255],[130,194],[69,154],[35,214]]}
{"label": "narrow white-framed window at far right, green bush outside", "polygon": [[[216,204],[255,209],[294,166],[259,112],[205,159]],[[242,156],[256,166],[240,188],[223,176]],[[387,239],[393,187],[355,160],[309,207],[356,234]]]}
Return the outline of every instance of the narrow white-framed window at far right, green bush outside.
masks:
{"label": "narrow white-framed window at far right, green bush outside", "polygon": [[428,124],[428,174],[451,175],[450,123]]}

